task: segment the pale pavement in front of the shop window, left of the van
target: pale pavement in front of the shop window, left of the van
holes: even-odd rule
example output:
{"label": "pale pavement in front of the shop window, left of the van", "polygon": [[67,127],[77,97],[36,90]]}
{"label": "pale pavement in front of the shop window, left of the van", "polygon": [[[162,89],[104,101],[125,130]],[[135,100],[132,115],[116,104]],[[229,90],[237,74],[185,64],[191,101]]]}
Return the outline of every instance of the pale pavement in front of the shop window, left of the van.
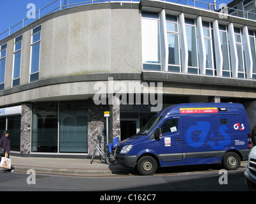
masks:
{"label": "pale pavement in front of the shop window, left of the van", "polygon": [[[15,172],[27,172],[35,170],[36,173],[65,174],[65,175],[129,175],[131,169],[124,166],[108,165],[99,159],[74,159],[52,157],[19,157],[10,156]],[[1,171],[6,169],[0,168]]]}

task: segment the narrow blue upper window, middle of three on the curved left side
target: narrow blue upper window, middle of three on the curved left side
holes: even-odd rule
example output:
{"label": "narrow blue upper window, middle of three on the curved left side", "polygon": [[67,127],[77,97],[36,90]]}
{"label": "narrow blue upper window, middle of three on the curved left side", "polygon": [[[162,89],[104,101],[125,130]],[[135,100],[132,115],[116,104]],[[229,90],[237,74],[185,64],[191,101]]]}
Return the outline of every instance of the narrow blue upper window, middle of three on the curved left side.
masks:
{"label": "narrow blue upper window, middle of three on the curved left side", "polygon": [[22,36],[15,38],[14,44],[14,62],[13,62],[13,84],[15,87],[20,85],[20,61],[21,61]]}

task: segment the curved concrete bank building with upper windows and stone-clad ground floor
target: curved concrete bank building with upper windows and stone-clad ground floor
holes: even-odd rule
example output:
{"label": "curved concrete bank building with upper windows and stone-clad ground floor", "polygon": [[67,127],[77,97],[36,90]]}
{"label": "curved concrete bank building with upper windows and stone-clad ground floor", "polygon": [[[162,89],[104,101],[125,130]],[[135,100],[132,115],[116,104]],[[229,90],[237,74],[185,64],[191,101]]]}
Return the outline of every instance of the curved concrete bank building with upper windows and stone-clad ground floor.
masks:
{"label": "curved concrete bank building with upper windows and stone-clad ground floor", "polygon": [[92,138],[124,140],[177,103],[243,103],[253,128],[255,32],[165,1],[56,11],[0,41],[0,130],[17,154],[86,157]]}

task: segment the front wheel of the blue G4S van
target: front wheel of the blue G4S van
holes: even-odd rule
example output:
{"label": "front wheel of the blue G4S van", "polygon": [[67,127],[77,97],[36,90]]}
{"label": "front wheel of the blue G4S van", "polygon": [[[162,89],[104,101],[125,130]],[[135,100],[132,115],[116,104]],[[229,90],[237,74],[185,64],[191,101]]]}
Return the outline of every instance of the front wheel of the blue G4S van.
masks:
{"label": "front wheel of the blue G4S van", "polygon": [[153,175],[157,170],[156,160],[150,156],[143,156],[138,161],[137,169],[141,175]]}

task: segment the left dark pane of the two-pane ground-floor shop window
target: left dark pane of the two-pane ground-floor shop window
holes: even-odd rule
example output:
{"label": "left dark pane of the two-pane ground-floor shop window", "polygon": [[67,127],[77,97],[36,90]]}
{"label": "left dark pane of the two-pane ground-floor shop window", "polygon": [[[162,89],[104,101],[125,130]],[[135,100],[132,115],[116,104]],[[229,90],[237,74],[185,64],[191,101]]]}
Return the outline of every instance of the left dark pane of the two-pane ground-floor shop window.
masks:
{"label": "left dark pane of the two-pane ground-floor shop window", "polygon": [[58,102],[33,103],[32,152],[58,151]]}

